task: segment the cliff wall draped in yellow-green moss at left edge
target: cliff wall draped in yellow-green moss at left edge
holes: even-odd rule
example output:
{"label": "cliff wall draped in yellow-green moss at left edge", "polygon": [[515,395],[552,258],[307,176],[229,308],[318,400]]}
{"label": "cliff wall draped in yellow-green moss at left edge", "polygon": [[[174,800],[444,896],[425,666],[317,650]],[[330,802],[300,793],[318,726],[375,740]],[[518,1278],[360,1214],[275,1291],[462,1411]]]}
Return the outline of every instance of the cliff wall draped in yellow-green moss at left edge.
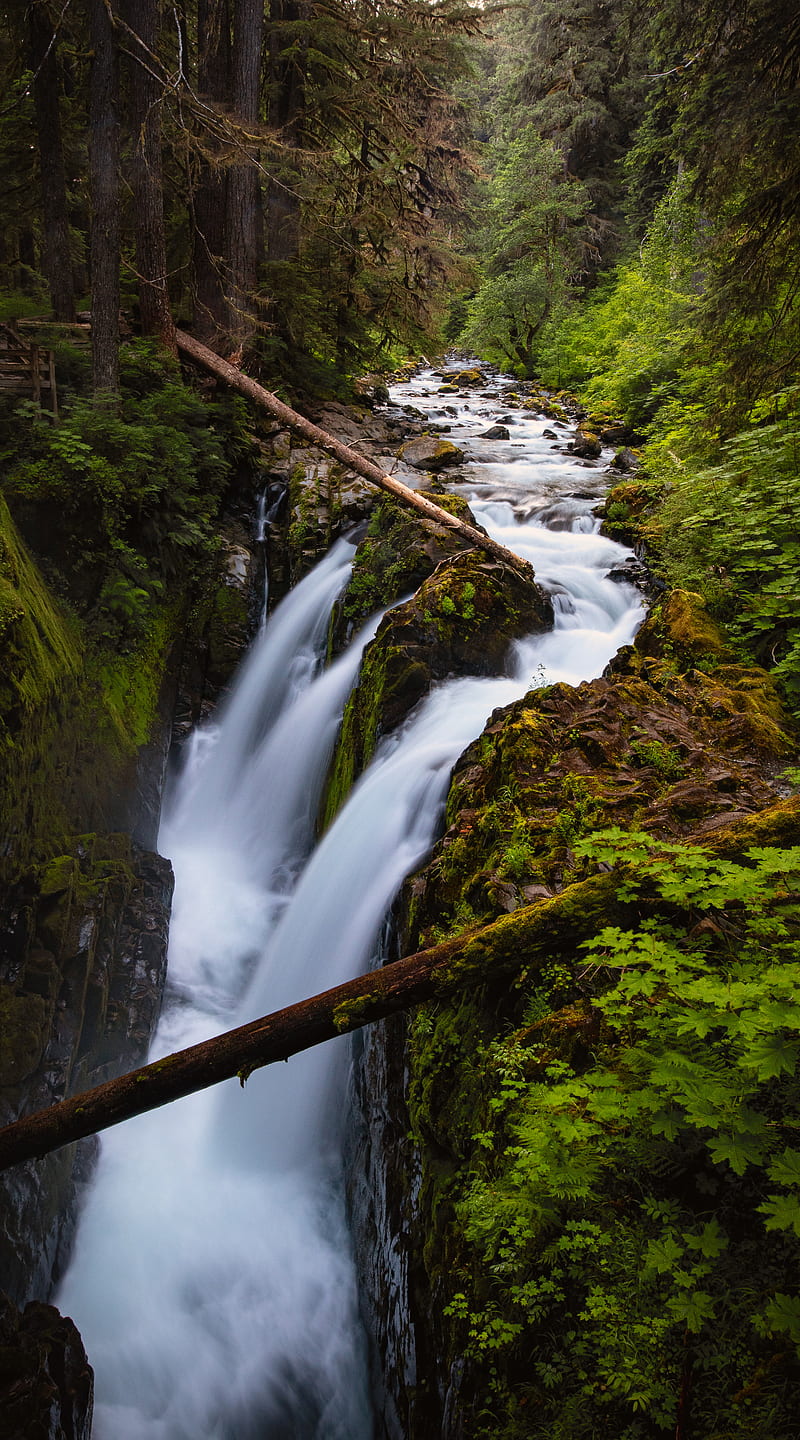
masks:
{"label": "cliff wall draped in yellow-green moss at left edge", "polygon": [[140,757],[167,733],[160,701],[184,612],[164,600],[131,651],[91,642],[49,593],[3,500],[0,593],[0,883],[12,884],[76,831],[138,832]]}

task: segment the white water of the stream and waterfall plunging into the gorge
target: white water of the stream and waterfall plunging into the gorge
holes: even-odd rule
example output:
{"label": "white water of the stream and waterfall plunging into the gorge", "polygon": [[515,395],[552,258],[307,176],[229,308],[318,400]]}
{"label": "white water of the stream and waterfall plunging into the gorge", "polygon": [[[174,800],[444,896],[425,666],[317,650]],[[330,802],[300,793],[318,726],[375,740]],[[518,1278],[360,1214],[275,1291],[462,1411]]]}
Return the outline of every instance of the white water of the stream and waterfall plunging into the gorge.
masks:
{"label": "white water of the stream and waterfall plunging into the gorge", "polygon": [[[430,403],[426,384],[399,399]],[[587,472],[555,461],[545,422],[531,416],[515,423],[518,461],[486,459],[488,442],[471,433],[482,409],[471,406],[453,431],[476,454],[473,510],[554,590],[557,626],[517,647],[512,675],[437,688],[378,749],[299,874],[365,642],[317,674],[351,547],[294,592],[164,824],[177,888],[155,1056],[365,969],[397,887],[430,847],[450,768],[486,716],[531,684],[591,678],[635,634],[640,599],[604,577],[626,552],[594,533]],[[537,513],[547,520],[555,503],[553,530]],[[347,1053],[334,1041],[256,1071],[243,1092],[230,1083],[104,1139],[59,1296],[96,1368],[96,1440],[368,1440],[337,1171]]]}

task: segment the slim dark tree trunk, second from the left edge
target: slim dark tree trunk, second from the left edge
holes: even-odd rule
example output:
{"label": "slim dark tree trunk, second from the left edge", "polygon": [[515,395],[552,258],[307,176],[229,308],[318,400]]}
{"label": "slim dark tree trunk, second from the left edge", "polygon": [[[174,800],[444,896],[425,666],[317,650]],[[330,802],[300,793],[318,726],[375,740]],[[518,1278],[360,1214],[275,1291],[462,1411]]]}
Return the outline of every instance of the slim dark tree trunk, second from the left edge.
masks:
{"label": "slim dark tree trunk, second from the left edge", "polygon": [[92,383],[95,395],[117,395],[119,392],[119,76],[117,40],[105,0],[89,0],[89,26]]}

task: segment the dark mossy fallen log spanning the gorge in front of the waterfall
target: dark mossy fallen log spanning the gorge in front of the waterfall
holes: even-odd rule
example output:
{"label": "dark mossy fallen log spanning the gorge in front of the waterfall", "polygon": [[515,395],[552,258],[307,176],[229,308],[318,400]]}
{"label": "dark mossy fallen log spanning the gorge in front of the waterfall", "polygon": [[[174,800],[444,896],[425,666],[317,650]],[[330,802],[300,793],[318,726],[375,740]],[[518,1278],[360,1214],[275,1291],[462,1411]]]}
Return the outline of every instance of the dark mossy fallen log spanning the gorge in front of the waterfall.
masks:
{"label": "dark mossy fallen log spanning the gorge in front of the waterfall", "polygon": [[380,971],[178,1050],[105,1084],[24,1116],[0,1130],[0,1171],[155,1110],[222,1080],[247,1076],[335,1035],[424,1001],[502,979],[576,948],[620,922],[617,877],[594,876],[472,933],[409,955]]}

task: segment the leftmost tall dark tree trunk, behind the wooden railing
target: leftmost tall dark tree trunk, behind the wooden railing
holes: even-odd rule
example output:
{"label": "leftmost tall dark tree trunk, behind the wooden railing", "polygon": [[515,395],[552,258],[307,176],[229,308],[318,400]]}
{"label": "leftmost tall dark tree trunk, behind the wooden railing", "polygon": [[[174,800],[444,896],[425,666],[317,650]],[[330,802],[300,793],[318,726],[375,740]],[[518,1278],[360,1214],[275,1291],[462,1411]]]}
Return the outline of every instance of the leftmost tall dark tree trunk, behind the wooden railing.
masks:
{"label": "leftmost tall dark tree trunk, behind the wooden railing", "polygon": [[42,264],[56,320],[75,320],[75,284],[69,246],[66,209],[66,173],[59,108],[59,72],[55,26],[43,0],[33,0],[29,12],[33,108],[39,137],[42,171],[42,217],[45,245]]}

